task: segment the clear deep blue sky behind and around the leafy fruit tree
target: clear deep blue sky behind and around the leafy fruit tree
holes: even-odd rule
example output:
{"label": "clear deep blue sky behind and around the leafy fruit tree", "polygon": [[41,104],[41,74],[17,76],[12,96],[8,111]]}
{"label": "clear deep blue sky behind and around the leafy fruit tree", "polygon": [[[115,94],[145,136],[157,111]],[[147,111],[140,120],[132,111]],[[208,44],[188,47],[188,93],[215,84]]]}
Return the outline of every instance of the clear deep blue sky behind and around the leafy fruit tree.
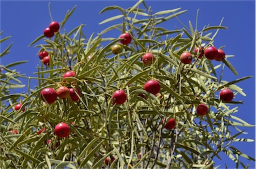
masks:
{"label": "clear deep blue sky behind and around the leafy fruit tree", "polygon": [[[43,29],[48,27],[51,18],[48,11],[49,1],[1,1],[1,31],[3,37],[11,35],[11,39],[1,45],[1,51],[13,42],[11,53],[1,59],[1,65],[7,65],[15,61],[29,60],[19,67],[18,71],[27,76],[34,77],[36,66],[39,64],[39,58],[36,55],[39,49],[28,47],[28,45],[39,35],[43,34]],[[65,17],[67,10],[77,5],[77,9],[67,21],[65,28],[67,31],[85,24],[84,32],[87,37],[91,33],[99,33],[107,25],[98,25],[107,17],[116,13],[106,12],[99,15],[99,11],[109,5],[119,5],[123,8],[131,7],[136,1],[51,1],[51,11],[53,19],[61,22]],[[190,20],[195,25],[197,9],[199,11],[199,29],[204,25],[219,25],[224,17],[223,25],[228,29],[219,31],[215,39],[215,46],[224,48],[226,55],[235,55],[229,59],[239,75],[233,75],[228,68],[223,75],[226,81],[233,81],[241,77],[253,75],[253,78],[237,83],[247,94],[246,97],[237,94],[235,100],[244,100],[244,104],[239,106],[239,112],[235,115],[243,118],[250,124],[255,124],[255,1],[147,1],[154,12],[175,9],[188,9],[187,13],[179,16],[179,19],[188,26]],[[175,29],[175,26],[182,28],[175,19],[172,19],[167,29]],[[118,37],[118,35],[109,35]],[[43,42],[43,41],[40,41]],[[40,43],[39,42],[39,43]],[[23,81],[27,83],[27,81]],[[35,84],[35,82],[34,82]],[[27,89],[24,88],[26,91]],[[255,128],[245,128],[247,135],[244,138],[255,138]],[[255,157],[255,142],[245,142],[233,144],[239,147],[239,150],[250,156]],[[234,167],[234,163],[221,154],[223,160],[217,160],[216,165],[224,168],[225,162],[229,167]],[[243,160],[246,162],[246,160]],[[247,161],[249,162],[249,161]],[[233,164],[232,164],[233,163]],[[255,164],[251,164],[255,168]]]}

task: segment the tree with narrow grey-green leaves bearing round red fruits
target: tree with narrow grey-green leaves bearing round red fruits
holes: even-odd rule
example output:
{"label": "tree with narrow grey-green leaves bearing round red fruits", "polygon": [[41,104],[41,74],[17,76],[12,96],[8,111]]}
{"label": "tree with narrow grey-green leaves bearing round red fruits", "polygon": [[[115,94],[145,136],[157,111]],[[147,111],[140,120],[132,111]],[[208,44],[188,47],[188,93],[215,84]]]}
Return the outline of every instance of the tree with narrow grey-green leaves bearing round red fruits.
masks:
{"label": "tree with narrow grey-green leaves bearing round red fruits", "polygon": [[[119,15],[100,25],[119,23],[88,38],[84,25],[62,31],[74,10],[67,12],[54,37],[41,35],[30,45],[42,41],[35,47],[39,53],[49,53],[49,64],[41,62],[36,71],[36,88],[29,88],[27,94],[7,90],[20,87],[10,80],[19,83],[17,77],[35,77],[9,69],[23,61],[1,66],[5,71],[1,73],[1,152],[5,154],[1,168],[212,168],[219,152],[225,152],[237,168],[247,167],[239,156],[255,161],[232,146],[253,141],[237,138],[243,134],[239,126],[252,126],[234,115],[241,101],[223,101],[219,96],[223,88],[245,95],[236,83],[250,77],[223,81],[215,71],[219,67],[225,71],[225,65],[237,74],[230,56],[215,61],[206,53],[214,47],[219,29],[226,28],[222,21],[203,30],[190,22],[189,28],[181,23],[183,29],[168,30],[161,23],[186,10],[155,12],[139,1],[129,9],[105,7],[100,13],[115,10]],[[116,36],[105,37],[109,31]],[[119,37],[123,33],[126,41]],[[195,52],[197,47],[201,51]],[[69,71],[75,75],[63,77]],[[155,80],[156,86],[148,85],[149,80]],[[69,88],[67,98],[59,92],[45,94],[45,88],[58,91],[61,86]],[[14,110],[18,102],[23,106]],[[199,105],[206,112],[199,113]],[[59,129],[61,122],[69,129]]]}

